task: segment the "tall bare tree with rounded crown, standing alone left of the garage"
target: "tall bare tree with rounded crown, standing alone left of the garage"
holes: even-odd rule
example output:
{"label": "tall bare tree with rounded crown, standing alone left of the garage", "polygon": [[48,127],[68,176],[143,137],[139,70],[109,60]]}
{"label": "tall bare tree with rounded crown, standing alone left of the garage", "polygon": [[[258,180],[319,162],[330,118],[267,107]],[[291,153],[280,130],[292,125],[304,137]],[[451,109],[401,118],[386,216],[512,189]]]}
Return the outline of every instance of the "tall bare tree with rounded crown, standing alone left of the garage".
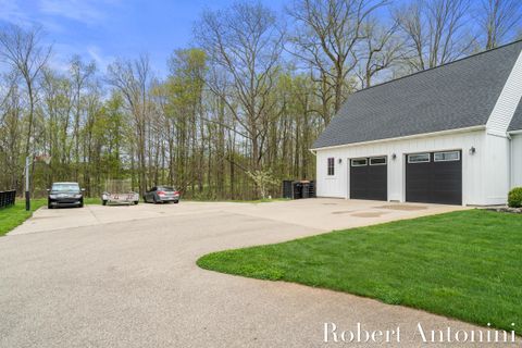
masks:
{"label": "tall bare tree with rounded crown, standing alone left of the garage", "polygon": [[203,13],[196,37],[209,61],[225,74],[225,88],[212,80],[208,86],[222,97],[245,130],[251,146],[251,169],[259,170],[284,32],[272,10],[260,2],[237,2],[225,11]]}

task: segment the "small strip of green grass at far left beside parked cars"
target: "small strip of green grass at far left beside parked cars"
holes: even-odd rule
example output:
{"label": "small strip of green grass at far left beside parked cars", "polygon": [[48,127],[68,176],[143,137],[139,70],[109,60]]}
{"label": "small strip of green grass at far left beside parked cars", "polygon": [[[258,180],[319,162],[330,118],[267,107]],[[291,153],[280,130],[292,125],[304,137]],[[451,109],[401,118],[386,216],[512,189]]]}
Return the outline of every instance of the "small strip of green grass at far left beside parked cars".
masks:
{"label": "small strip of green grass at far left beside parked cars", "polygon": [[[100,198],[85,198],[86,204],[101,204]],[[30,211],[25,211],[25,199],[16,199],[13,207],[0,209],[0,237],[14,227],[21,225],[33,215],[33,212],[40,207],[47,206],[46,198],[32,199]]]}

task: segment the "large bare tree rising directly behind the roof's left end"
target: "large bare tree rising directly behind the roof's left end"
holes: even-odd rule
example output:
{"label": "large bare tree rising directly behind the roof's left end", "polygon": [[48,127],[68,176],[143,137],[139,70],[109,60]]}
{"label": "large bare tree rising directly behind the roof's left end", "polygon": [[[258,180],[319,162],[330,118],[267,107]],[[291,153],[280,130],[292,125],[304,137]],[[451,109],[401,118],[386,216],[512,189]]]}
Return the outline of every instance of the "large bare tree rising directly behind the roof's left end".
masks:
{"label": "large bare tree rising directly behind the roof's left end", "polygon": [[[364,37],[363,23],[386,0],[296,0],[289,14],[298,28],[291,42],[296,55],[312,67],[323,98],[333,95],[334,112],[345,101],[348,74],[359,63],[357,45]],[[331,114],[324,109],[325,122]]]}

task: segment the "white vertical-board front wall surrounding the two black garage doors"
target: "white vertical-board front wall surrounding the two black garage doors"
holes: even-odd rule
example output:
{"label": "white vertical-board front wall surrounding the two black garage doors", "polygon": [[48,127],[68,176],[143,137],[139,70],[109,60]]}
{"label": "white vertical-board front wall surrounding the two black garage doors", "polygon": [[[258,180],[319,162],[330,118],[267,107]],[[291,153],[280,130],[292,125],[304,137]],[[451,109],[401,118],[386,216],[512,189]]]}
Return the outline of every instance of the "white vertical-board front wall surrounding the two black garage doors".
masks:
{"label": "white vertical-board front wall surrounding the two black garage doors", "polygon": [[[406,200],[406,156],[418,152],[462,150],[462,203],[488,204],[486,202],[484,129],[422,135],[419,137],[380,140],[368,144],[346,145],[316,149],[316,178],[319,197],[349,199],[350,159],[387,157],[388,200]],[[476,152],[470,154],[474,147]],[[393,154],[396,159],[391,159]],[[335,158],[335,175],[327,175],[327,159]],[[339,159],[341,163],[339,163]],[[492,194],[494,195],[494,194]],[[490,195],[490,196],[492,196]]]}

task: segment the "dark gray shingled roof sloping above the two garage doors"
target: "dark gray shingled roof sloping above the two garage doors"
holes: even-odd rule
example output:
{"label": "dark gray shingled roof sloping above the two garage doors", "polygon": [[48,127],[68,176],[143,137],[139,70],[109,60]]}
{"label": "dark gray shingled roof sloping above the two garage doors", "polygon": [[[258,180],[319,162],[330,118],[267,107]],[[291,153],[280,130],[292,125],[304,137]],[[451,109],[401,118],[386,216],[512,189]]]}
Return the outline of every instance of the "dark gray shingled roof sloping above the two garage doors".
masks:
{"label": "dark gray shingled roof sloping above the two garage doors", "polygon": [[313,148],[485,125],[521,50],[517,41],[360,90]]}

